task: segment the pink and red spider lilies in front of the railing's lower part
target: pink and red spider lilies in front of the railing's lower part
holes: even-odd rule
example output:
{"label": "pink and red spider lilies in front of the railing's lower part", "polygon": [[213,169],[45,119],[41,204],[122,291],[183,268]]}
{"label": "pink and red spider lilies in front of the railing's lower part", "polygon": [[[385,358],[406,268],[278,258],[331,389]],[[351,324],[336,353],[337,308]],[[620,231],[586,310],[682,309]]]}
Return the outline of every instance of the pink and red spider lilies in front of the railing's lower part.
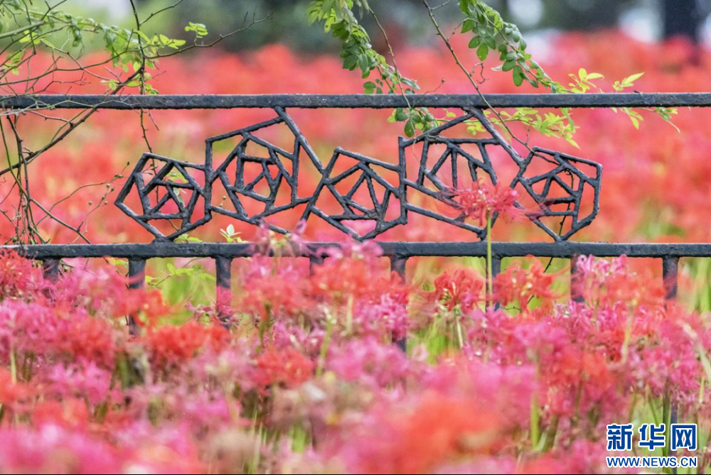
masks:
{"label": "pink and red spider lilies in front of the railing's lower part", "polygon": [[270,246],[240,268],[227,327],[214,307],[171,324],[111,268],[53,284],[1,256],[0,469],[587,472],[611,421],[673,407],[707,430],[709,323],[625,258],[582,258],[584,302],[565,302],[538,263],[493,295],[471,268],[424,291],[374,244],[311,271]]}

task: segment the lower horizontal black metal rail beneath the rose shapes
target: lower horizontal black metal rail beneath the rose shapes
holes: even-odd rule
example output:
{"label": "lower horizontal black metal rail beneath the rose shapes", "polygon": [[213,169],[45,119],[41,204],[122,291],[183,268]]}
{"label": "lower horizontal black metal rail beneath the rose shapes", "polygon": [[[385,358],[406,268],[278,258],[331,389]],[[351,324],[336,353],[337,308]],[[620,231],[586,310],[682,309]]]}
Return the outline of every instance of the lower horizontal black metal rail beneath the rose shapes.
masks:
{"label": "lower horizontal black metal rail beneath the rose shapes", "polygon": [[[486,241],[476,242],[378,242],[385,256],[408,258],[413,256],[471,256],[486,257]],[[304,245],[299,256],[312,256],[325,247],[337,243],[310,243]],[[592,242],[493,242],[493,256],[505,257],[558,257],[576,255],[598,257],[711,257],[711,244],[665,243],[592,243]],[[248,257],[254,253],[250,243],[152,243],[152,244],[33,244],[29,246],[0,246],[0,250],[13,250],[36,259],[48,258],[169,258],[169,257]]]}

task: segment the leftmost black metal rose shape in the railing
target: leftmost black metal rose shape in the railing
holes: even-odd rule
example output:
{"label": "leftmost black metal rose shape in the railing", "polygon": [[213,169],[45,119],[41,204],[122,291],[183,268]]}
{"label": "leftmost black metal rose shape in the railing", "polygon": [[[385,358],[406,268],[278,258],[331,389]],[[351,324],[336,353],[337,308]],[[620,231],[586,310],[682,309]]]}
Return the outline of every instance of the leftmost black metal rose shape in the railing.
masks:
{"label": "leftmost black metal rose shape in the railing", "polygon": [[[206,200],[206,196],[204,188],[188,173],[189,170],[196,170],[196,175],[205,178],[206,169],[202,165],[144,153],[119,192],[115,204],[156,236],[156,241],[172,241],[210,221],[210,214],[205,214],[196,222],[191,221],[198,200]],[[125,202],[134,189],[141,212],[134,211]],[[170,231],[166,234],[151,222],[168,223]]]}

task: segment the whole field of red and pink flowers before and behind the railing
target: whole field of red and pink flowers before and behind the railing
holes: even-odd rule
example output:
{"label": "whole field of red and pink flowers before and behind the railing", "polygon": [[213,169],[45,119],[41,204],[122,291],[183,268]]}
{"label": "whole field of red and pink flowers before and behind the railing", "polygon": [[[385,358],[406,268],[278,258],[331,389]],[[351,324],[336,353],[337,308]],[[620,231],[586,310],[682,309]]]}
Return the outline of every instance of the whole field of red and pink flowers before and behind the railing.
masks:
{"label": "whole field of red and pink flowers before and behind the railing", "polygon": [[[711,53],[685,43],[606,32],[567,34],[552,46],[555,64],[540,62],[554,78],[583,66],[604,75],[605,90],[636,72],[645,92],[708,88]],[[397,60],[423,92],[471,92],[442,49],[408,48]],[[210,50],[160,68],[162,94],[347,93],[363,82],[338,58],[279,45]],[[486,92],[519,92],[508,76],[483,76]],[[90,81],[81,92],[104,90]],[[154,111],[144,140],[138,113],[101,111],[30,165],[33,196],[58,218],[42,219],[38,232],[77,241],[63,222],[92,242],[149,242],[112,204],[141,153],[201,164],[205,138],[273,114]],[[341,146],[397,163],[402,124],[387,121],[390,111],[289,114],[322,160]],[[579,148],[531,142],[604,166],[601,211],[574,239],[711,242],[711,111],[680,110],[680,132],[646,111],[638,130],[621,111],[572,114]],[[19,124],[37,130],[26,136],[38,143],[53,133],[38,116]],[[498,166],[502,182],[515,175],[515,163]],[[7,217],[21,197],[2,179]],[[299,178],[307,187],[316,179]],[[515,215],[493,226],[496,241],[550,240],[519,219],[512,195],[475,191],[458,198],[472,218]],[[300,213],[279,224],[296,227]],[[383,239],[476,239],[433,223],[414,217]],[[2,254],[0,473],[606,473],[615,470],[605,463],[606,425],[673,417],[698,425],[698,449],[676,453],[698,457],[690,473],[711,465],[708,259],[682,261],[679,301],[667,302],[659,261],[580,258],[581,295],[571,300],[567,261],[507,259],[488,282],[483,259],[412,258],[403,282],[377,244],[346,240],[318,219],[298,227],[284,237],[216,216],[191,231],[193,240],[260,250],[233,263],[230,305],[215,303],[209,259],[156,259],[146,287],[129,290],[123,261],[68,261],[51,282],[31,261]],[[15,232],[0,220],[3,241]],[[333,240],[341,249],[320,265],[289,255],[292,245]],[[395,344],[403,339],[406,352]],[[634,454],[649,453],[634,444]]]}

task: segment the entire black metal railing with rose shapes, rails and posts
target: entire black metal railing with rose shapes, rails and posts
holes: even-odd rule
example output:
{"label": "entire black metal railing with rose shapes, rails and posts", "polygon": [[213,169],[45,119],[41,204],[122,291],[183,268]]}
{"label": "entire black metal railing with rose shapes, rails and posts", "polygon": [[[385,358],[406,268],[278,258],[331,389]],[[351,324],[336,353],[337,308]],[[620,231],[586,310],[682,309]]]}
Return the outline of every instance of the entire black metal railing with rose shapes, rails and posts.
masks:
{"label": "entire black metal railing with rose shapes, rails and posts", "polygon": [[[464,114],[451,121],[449,124],[438,127],[423,136],[414,139],[400,138],[400,158],[399,163],[385,163],[375,158],[370,158],[360,153],[345,151],[337,148],[334,151],[331,161],[321,163],[314,151],[311,150],[306,137],[299,131],[298,126],[289,116],[287,109],[318,109],[318,108],[370,108],[388,109],[393,107],[447,107],[449,109],[461,109]],[[129,276],[132,277],[132,286],[143,285],[146,261],[151,258],[170,257],[194,257],[194,258],[214,258],[217,278],[217,291],[228,292],[230,288],[230,264],[235,258],[243,258],[252,255],[254,247],[247,243],[176,243],[172,242],[181,234],[186,233],[210,220],[213,213],[227,215],[233,219],[250,224],[260,224],[265,217],[272,216],[278,212],[292,209],[296,205],[306,205],[304,219],[316,216],[324,219],[328,224],[341,229],[346,234],[350,234],[355,239],[373,239],[378,234],[387,231],[394,226],[407,224],[407,217],[410,214],[420,214],[439,221],[454,224],[463,229],[471,231],[480,239],[485,238],[483,229],[466,222],[464,216],[447,217],[437,212],[422,209],[407,200],[408,190],[417,190],[434,200],[456,206],[452,200],[451,185],[446,185],[438,177],[438,170],[442,168],[446,160],[456,162],[465,160],[469,166],[471,178],[481,174],[488,175],[493,182],[496,182],[496,170],[493,169],[491,161],[488,159],[488,149],[498,147],[503,149],[515,165],[519,167],[519,173],[513,185],[523,185],[524,189],[538,203],[540,209],[535,214],[528,217],[541,226],[550,234],[554,242],[532,242],[532,243],[508,243],[494,242],[491,244],[491,256],[493,259],[493,271],[496,273],[501,269],[503,258],[517,256],[538,256],[551,258],[567,258],[571,260],[572,275],[576,273],[575,258],[581,255],[594,255],[599,257],[621,256],[637,258],[658,258],[661,260],[663,268],[663,278],[667,288],[668,299],[676,296],[678,262],[680,258],[711,257],[711,243],[702,244],[622,244],[622,243],[588,243],[567,241],[575,231],[582,226],[587,226],[597,214],[597,201],[599,198],[600,182],[602,180],[602,167],[590,160],[571,157],[555,151],[546,151],[540,148],[533,148],[526,157],[518,155],[516,151],[496,132],[486,117],[482,114],[482,109],[487,107],[711,107],[711,94],[489,94],[485,98],[478,95],[460,94],[427,94],[408,96],[407,100],[398,95],[314,95],[314,94],[269,94],[269,95],[170,95],[170,96],[104,96],[104,95],[38,95],[38,96],[0,96],[0,109],[13,109],[14,111],[32,111],[36,109],[235,109],[235,108],[262,108],[273,109],[274,119],[238,129],[222,136],[208,138],[206,141],[205,163],[194,164],[162,157],[161,155],[145,154],[137,164],[137,168],[132,172],[127,180],[126,186],[119,192],[117,206],[126,212],[130,218],[139,222],[141,226],[154,234],[156,240],[152,244],[38,244],[27,246],[0,246],[0,249],[13,249],[22,253],[28,258],[43,262],[45,275],[50,279],[57,279],[60,273],[60,261],[65,258],[126,258],[129,261]],[[443,136],[442,133],[450,126],[461,123],[461,121],[479,121],[483,128],[488,131],[487,138],[451,138]],[[294,148],[291,151],[284,150],[272,143],[258,138],[253,132],[272,124],[284,124],[294,134]],[[237,146],[229,153],[223,163],[213,163],[213,153],[211,146],[217,141],[225,138],[237,140]],[[248,142],[261,146],[267,153],[266,158],[251,156],[246,151]],[[419,173],[417,177],[407,176],[406,159],[404,150],[415,143],[422,144],[422,160],[419,163]],[[428,145],[437,143],[446,148],[437,163],[428,165],[427,150]],[[473,156],[464,150],[464,145],[476,146],[481,152],[480,155]],[[370,193],[373,198],[372,206],[363,205],[353,199],[353,193],[336,192],[336,183],[343,179],[343,175],[332,176],[333,165],[342,157],[355,160],[356,165],[347,170],[347,173],[360,173],[359,184],[364,184],[368,190],[373,190],[378,186],[384,190],[383,198],[378,199],[374,193]],[[553,170],[543,175],[527,175],[527,167],[532,160],[546,160],[555,165]],[[152,163],[159,163],[153,178],[146,182],[144,177],[144,165],[151,160]],[[289,160],[294,168],[289,172],[284,168],[284,160]],[[294,173],[299,160],[305,160],[321,174],[316,192],[309,196],[299,195],[298,175]],[[260,194],[255,191],[254,180],[245,180],[240,175],[240,166],[245,163],[257,163],[264,168],[263,176],[257,177],[259,180],[267,180],[269,193]],[[234,178],[225,172],[228,165],[236,164],[237,173]],[[593,173],[582,172],[582,167],[593,170]],[[270,173],[268,168],[273,168],[276,172]],[[388,170],[397,176],[396,182],[385,180],[377,169]],[[456,187],[456,171],[453,170],[451,180]],[[169,173],[181,175],[180,181],[171,181]],[[566,175],[577,185],[573,187],[568,182],[562,182],[560,175]],[[427,181],[427,185],[425,182]],[[535,182],[545,182],[547,185],[543,190],[533,190]],[[570,191],[567,197],[548,197],[547,189],[551,182],[557,182],[565,190]],[[211,187],[215,183],[221,183],[228,195],[230,204],[228,209],[223,203],[212,201]],[[275,204],[277,189],[283,183],[287,183],[292,188],[291,200],[286,205]],[[587,216],[582,216],[581,200],[583,200],[584,187],[589,187],[592,191],[594,203],[592,212]],[[154,190],[163,190],[164,195],[158,202],[149,202],[147,195]],[[176,200],[175,190],[180,189],[190,195],[188,200]],[[331,192],[336,201],[343,206],[343,212],[339,214],[328,214],[316,205],[316,195],[320,192]],[[133,194],[137,197],[139,209],[132,209],[126,203],[126,198]],[[253,200],[264,203],[264,212],[250,215],[245,207],[242,207],[240,197],[250,197]],[[193,219],[196,212],[198,200],[205,202],[203,216]],[[176,203],[178,212],[161,212],[163,204],[169,201]],[[561,210],[561,206],[566,206]],[[388,212],[392,207],[397,211],[397,217],[388,217]],[[390,213],[392,214],[392,213]],[[548,229],[540,222],[541,217],[562,217],[570,219],[571,231],[565,234]],[[369,219],[374,222],[372,231],[365,235],[360,235],[355,229],[348,226],[348,222],[353,220]],[[178,222],[179,227],[169,235],[164,235],[154,226],[154,222],[160,220],[171,220]],[[287,232],[289,229],[282,229],[272,226],[272,229]],[[379,243],[383,249],[383,254],[390,258],[391,268],[405,277],[405,265],[407,259],[414,256],[473,256],[486,257],[487,249],[485,241],[467,242],[391,242],[383,241]],[[319,250],[328,246],[338,246],[336,243],[314,243],[307,244],[298,250],[298,255],[310,258],[312,262],[318,263],[323,255],[319,255]]]}

